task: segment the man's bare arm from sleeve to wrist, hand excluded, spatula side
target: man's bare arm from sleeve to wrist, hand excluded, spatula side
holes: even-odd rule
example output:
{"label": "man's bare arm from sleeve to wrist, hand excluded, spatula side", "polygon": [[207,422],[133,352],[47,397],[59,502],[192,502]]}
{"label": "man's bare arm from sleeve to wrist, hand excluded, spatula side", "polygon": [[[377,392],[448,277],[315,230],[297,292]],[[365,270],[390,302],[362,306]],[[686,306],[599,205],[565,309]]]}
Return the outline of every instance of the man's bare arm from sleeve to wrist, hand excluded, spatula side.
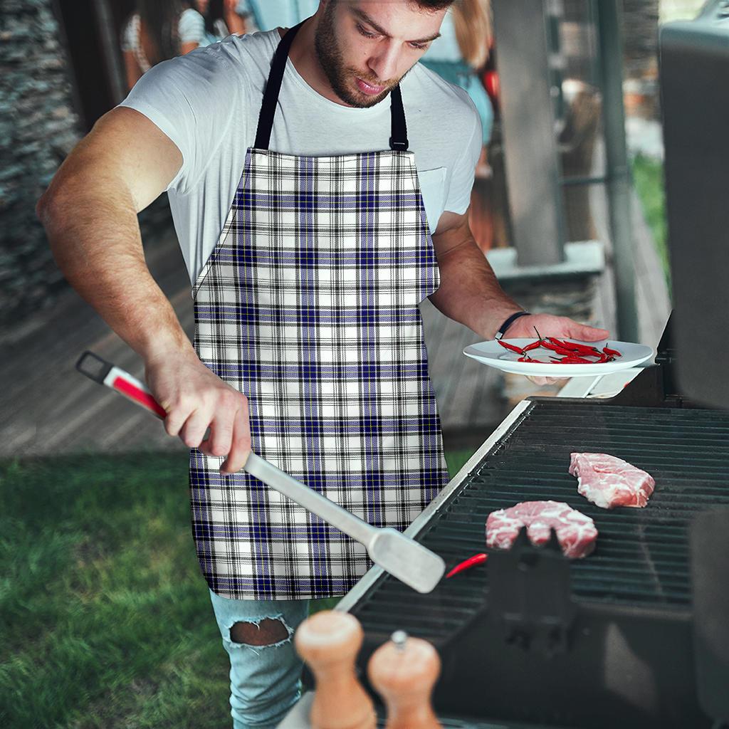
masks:
{"label": "man's bare arm from sleeve to wrist, hand excluded, spatula side", "polygon": [[147,269],[137,221],[181,165],[179,149],[152,122],[114,109],[77,144],[37,206],[66,279],[145,359],[189,343]]}

